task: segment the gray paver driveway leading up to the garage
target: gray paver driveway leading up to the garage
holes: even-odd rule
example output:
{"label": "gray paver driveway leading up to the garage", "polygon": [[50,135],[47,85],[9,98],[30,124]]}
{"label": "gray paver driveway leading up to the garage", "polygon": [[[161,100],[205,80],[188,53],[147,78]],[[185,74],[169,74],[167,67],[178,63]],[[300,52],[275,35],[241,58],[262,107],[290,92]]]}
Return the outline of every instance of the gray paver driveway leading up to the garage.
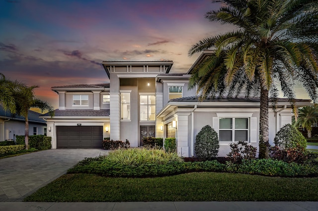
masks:
{"label": "gray paver driveway leading up to the garage", "polygon": [[45,150],[0,159],[0,202],[22,201],[79,160],[105,155],[101,149]]}

